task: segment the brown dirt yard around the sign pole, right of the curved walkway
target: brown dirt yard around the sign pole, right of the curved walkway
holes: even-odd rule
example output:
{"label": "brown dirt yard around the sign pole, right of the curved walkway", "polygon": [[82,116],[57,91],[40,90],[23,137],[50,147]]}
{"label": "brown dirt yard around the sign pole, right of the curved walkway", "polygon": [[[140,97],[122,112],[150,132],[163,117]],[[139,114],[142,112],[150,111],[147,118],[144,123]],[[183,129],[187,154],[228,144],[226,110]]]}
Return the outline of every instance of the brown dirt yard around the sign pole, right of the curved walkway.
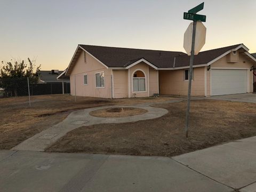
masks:
{"label": "brown dirt yard around the sign pole, right of the curved walkway", "polygon": [[169,110],[157,119],[79,127],[47,151],[174,156],[256,135],[255,103],[194,100],[186,139],[186,104],[157,105]]}

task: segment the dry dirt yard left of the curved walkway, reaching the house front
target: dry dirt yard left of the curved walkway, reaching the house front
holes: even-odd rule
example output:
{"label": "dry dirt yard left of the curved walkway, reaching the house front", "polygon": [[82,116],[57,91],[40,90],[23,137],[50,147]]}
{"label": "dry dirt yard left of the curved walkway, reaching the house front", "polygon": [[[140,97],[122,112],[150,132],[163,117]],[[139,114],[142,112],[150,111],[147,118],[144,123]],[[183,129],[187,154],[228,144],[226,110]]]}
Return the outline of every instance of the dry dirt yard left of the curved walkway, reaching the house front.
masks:
{"label": "dry dirt yard left of the curved walkway, reaching the house front", "polygon": [[40,95],[0,99],[0,149],[11,149],[23,140],[59,123],[71,111],[105,105],[127,105],[141,102],[161,102],[173,98],[100,99],[75,98],[70,95]]}

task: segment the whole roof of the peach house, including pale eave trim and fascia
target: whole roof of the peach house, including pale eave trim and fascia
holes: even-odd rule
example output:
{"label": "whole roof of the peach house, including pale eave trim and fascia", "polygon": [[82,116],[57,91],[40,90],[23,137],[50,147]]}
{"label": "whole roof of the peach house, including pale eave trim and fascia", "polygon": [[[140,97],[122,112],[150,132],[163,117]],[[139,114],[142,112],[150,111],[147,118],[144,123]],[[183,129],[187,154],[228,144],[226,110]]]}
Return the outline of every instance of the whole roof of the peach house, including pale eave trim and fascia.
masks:
{"label": "whole roof of the peach house, including pale eave trim and fascia", "polygon": [[[236,44],[219,49],[202,51],[195,55],[194,66],[210,65],[231,51],[243,50],[247,56],[256,61],[249,49],[243,44]],[[190,56],[178,51],[143,50],[120,47],[107,47],[95,45],[78,45],[76,52],[69,63],[66,75],[70,75],[79,54],[86,51],[107,68],[130,68],[138,61],[144,61],[155,69],[178,69],[188,67]]]}

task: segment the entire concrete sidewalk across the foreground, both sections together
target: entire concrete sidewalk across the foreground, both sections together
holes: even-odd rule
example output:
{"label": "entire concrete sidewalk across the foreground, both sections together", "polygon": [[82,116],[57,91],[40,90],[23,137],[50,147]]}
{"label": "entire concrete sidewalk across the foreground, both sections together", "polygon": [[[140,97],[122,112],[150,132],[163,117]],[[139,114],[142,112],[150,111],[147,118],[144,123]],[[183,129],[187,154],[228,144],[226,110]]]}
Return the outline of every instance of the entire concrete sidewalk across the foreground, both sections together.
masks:
{"label": "entire concrete sidewalk across the foreground, both sections together", "polygon": [[0,151],[2,191],[256,191],[256,137],[173,158]]}

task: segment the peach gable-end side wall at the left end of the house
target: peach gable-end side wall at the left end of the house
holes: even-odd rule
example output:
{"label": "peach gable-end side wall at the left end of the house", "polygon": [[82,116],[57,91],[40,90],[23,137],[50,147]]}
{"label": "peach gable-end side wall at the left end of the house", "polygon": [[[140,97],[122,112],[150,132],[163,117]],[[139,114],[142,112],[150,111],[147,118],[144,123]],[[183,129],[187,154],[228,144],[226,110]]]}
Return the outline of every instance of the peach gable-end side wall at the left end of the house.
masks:
{"label": "peach gable-end side wall at the left end of the house", "polygon": [[[104,88],[96,88],[95,73],[98,72],[104,72]],[[87,85],[84,85],[85,74],[87,74]],[[70,92],[71,95],[75,95],[76,92],[77,96],[111,98],[111,69],[107,69],[87,53],[85,62],[84,52],[81,52],[70,74]]]}

